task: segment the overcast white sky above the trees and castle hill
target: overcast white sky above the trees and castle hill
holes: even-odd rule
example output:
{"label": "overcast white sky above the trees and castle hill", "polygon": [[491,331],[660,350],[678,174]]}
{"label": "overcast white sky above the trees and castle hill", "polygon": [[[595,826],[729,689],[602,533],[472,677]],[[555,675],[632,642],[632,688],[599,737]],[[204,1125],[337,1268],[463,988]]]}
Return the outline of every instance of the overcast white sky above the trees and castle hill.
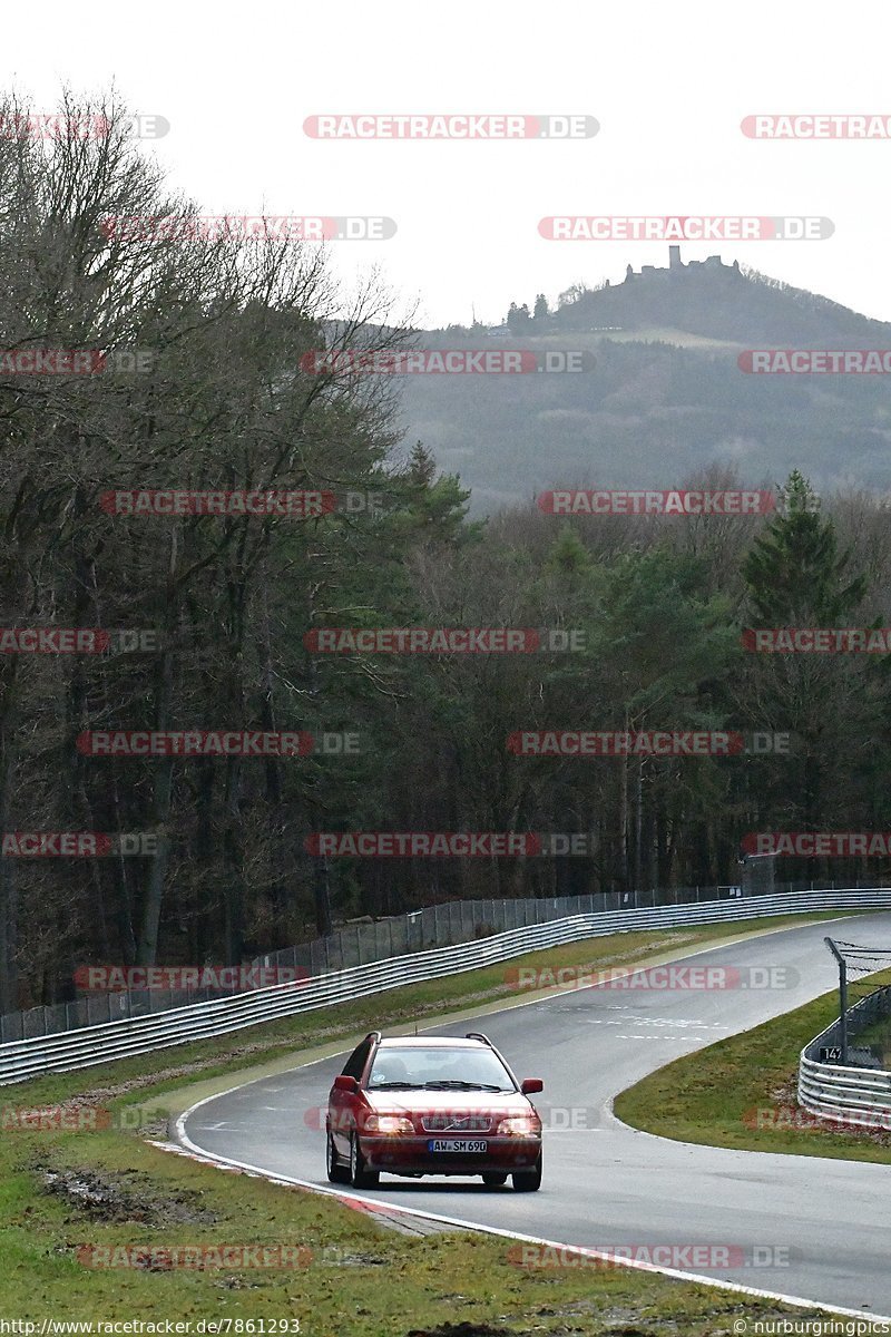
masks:
{"label": "overcast white sky above the trees and castle hill", "polygon": [[[760,142],[753,112],[891,116],[887,0],[188,0],[104,11],[41,0],[3,16],[3,84],[52,110],[61,83],[116,82],[171,122],[150,150],[207,213],[383,214],[398,233],[333,243],[379,266],[423,324],[486,322],[512,299],[664,265],[645,242],[546,242],[548,214],[828,215],[828,241],[687,245],[891,320],[891,140]],[[318,112],[584,112],[568,143],[313,140]]]}

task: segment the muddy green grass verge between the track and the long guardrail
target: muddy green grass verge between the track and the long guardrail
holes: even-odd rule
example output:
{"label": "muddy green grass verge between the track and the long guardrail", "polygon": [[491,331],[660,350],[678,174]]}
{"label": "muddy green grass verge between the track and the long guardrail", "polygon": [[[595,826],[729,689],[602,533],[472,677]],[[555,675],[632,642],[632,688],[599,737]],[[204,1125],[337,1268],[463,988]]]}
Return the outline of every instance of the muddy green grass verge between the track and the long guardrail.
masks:
{"label": "muddy green grass verge between the track and the long guardrail", "polygon": [[[812,916],[823,919],[828,916]],[[530,953],[512,965],[542,968],[655,963],[665,953],[751,931],[806,923],[799,916],[739,925],[622,933]],[[315,1337],[520,1337],[673,1330],[731,1332],[739,1318],[773,1318],[781,1305],[622,1267],[522,1267],[516,1245],[472,1231],[407,1238],[315,1194],[171,1157],[126,1123],[151,1094],[238,1072],[246,1063],[346,1047],[371,1025],[433,1021],[450,1008],[517,997],[505,967],[410,985],[235,1038],[180,1046],[4,1092],[0,1138],[0,1317],[39,1321],[236,1324],[301,1321]],[[339,1043],[343,1042],[343,1043]],[[17,1114],[61,1110],[79,1131],[24,1127]],[[107,1110],[114,1123],[84,1120]],[[51,1120],[44,1120],[51,1124]],[[160,1127],[156,1130],[160,1131]],[[298,1266],[171,1266],[163,1251],[287,1246]],[[134,1249],[143,1253],[134,1253]],[[147,1250],[154,1249],[151,1254]],[[91,1251],[92,1250],[92,1251]],[[95,1250],[104,1250],[95,1253]],[[116,1253],[115,1253],[116,1250]],[[131,1251],[127,1251],[131,1250]],[[196,1254],[180,1255],[196,1259]],[[255,1258],[260,1258],[255,1254]],[[116,1266],[91,1266],[96,1262]],[[443,1322],[443,1312],[448,1322]],[[819,1310],[814,1309],[814,1316]],[[803,1317],[797,1312],[799,1317]],[[227,1329],[238,1337],[239,1329]],[[254,1326],[258,1332],[258,1326]],[[293,1330],[293,1329],[290,1329]],[[226,1332],[224,1328],[218,1332]],[[242,1328],[242,1333],[251,1332]]]}

